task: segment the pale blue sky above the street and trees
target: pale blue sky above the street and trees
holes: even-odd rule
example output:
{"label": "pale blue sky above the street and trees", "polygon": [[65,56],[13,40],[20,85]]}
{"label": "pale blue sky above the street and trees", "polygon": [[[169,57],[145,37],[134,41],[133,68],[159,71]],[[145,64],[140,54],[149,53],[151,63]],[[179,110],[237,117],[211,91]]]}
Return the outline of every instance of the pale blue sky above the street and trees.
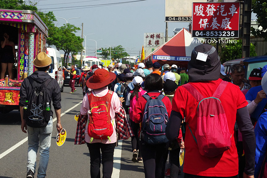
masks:
{"label": "pale blue sky above the street and trees", "polygon": [[[111,46],[122,45],[126,52],[131,51],[131,56],[138,56],[139,50],[142,50],[145,32],[164,32],[165,26],[165,1],[164,0],[146,0],[141,2],[132,2],[125,4],[118,4],[112,6],[100,6],[85,8],[88,5],[99,5],[107,3],[127,2],[134,0],[38,0],[37,8],[42,11],[53,11],[56,17],[70,19],[74,17],[81,17],[79,19],[70,19],[68,23],[77,27],[82,27],[83,34],[87,35],[87,49],[94,51],[95,42],[88,40],[100,40],[97,42],[97,48],[105,48]],[[75,3],[71,3],[75,2]],[[80,2],[80,3],[78,3]],[[50,5],[51,4],[51,5]],[[57,5],[52,5],[57,4]],[[75,7],[77,9],[66,10],[66,8],[59,7]],[[48,9],[57,8],[57,9]],[[61,11],[57,11],[61,10]],[[255,19],[255,14],[252,19]],[[64,19],[57,19],[55,24],[60,27],[66,21]],[[188,28],[188,22],[169,22],[168,35],[174,35],[174,28]],[[81,33],[79,31],[78,33]],[[94,56],[93,52],[87,52],[87,56]]]}

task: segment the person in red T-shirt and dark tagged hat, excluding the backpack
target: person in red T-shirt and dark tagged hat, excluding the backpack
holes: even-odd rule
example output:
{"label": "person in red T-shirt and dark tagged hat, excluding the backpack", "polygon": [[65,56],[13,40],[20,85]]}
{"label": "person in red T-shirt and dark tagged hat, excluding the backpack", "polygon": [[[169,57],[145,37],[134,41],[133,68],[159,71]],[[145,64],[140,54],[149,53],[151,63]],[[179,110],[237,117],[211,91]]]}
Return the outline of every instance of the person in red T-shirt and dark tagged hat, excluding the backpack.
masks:
{"label": "person in red T-shirt and dark tagged hat, excluding the backpack", "polygon": [[[220,61],[216,49],[208,44],[196,46],[188,63],[188,72],[190,83],[185,85],[193,85],[204,98],[211,97],[222,82],[222,79],[219,78]],[[181,121],[185,118],[187,123],[183,170],[185,178],[237,177],[238,155],[234,137],[235,121],[237,121],[244,141],[246,167],[243,177],[254,177],[255,134],[246,107],[248,103],[239,87],[232,83],[227,83],[219,100],[224,108],[229,132],[232,135],[231,146],[222,154],[210,158],[200,154],[197,143],[193,138],[197,128],[198,102],[185,87],[181,86],[176,90],[165,133],[169,140],[175,140],[179,135]],[[190,125],[192,134],[188,125]]]}

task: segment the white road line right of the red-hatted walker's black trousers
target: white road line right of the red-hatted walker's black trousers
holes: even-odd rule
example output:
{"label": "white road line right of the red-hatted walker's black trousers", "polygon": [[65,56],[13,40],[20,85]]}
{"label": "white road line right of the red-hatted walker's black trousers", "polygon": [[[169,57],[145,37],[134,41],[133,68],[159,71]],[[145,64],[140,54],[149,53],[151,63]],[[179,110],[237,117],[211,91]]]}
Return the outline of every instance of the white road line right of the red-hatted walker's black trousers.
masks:
{"label": "white road line right of the red-hatted walker's black trousers", "polygon": [[121,170],[121,149],[122,149],[122,140],[118,141],[118,146],[115,147],[114,150],[114,158],[113,161],[113,172],[112,177],[120,177],[120,170]]}

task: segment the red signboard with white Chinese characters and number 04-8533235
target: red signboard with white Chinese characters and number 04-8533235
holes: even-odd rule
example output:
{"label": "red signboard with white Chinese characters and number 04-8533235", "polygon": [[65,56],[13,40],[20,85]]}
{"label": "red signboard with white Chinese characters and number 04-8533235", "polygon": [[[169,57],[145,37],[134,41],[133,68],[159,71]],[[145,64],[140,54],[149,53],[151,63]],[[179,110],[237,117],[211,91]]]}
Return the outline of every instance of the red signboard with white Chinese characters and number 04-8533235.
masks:
{"label": "red signboard with white Chinese characters and number 04-8533235", "polygon": [[239,2],[193,2],[192,37],[237,38]]}

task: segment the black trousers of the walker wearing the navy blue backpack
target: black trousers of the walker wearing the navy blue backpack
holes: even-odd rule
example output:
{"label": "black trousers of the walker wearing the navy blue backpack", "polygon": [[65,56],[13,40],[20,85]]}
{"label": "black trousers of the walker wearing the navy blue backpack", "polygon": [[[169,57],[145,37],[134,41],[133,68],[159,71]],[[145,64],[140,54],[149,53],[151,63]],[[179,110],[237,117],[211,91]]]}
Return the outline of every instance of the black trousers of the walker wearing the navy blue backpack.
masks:
{"label": "black trousers of the walker wearing the navy blue backpack", "polygon": [[145,178],[164,178],[168,157],[167,144],[150,145],[140,140],[140,150],[145,168]]}

